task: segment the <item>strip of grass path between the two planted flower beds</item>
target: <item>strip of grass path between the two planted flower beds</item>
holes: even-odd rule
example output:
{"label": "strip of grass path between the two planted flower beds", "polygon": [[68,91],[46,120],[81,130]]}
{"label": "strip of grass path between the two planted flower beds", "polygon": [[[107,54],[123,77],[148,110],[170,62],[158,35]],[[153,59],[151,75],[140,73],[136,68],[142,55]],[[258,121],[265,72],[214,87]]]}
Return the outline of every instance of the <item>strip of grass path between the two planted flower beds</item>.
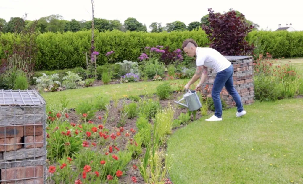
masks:
{"label": "strip of grass path between the two planted flower beds", "polygon": [[[184,89],[184,80],[168,80],[170,83],[174,83],[173,90],[177,90],[178,83]],[[186,80],[188,81],[188,80]],[[123,84],[108,84],[96,87],[80,88],[74,90],[64,90],[59,92],[41,93],[42,97],[46,100],[47,104],[58,105],[60,104],[60,98],[66,96],[66,100],[69,100],[68,108],[74,108],[77,102],[80,100],[92,100],[96,93],[105,93],[110,96],[116,95],[122,97],[123,95],[144,95],[156,93],[156,87],[164,81],[152,81],[152,82],[139,82],[139,83],[123,83]],[[197,81],[198,82],[198,81]],[[197,83],[196,82],[196,83]],[[175,83],[177,83],[175,85]],[[191,89],[195,88],[195,85],[191,86]]]}

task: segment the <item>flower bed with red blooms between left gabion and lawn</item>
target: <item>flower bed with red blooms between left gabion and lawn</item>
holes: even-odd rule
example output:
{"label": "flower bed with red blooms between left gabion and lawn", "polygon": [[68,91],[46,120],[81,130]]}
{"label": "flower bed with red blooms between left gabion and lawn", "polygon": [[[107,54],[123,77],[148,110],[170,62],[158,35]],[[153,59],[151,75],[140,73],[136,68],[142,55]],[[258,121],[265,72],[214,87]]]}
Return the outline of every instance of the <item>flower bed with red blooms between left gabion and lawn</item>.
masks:
{"label": "flower bed with red blooms between left gabion and lawn", "polygon": [[[168,170],[173,157],[165,155],[165,140],[175,128],[193,121],[186,108],[173,102],[181,96],[177,91],[163,100],[155,95],[132,99],[125,95],[105,107],[97,100],[102,110],[86,113],[87,104],[79,103],[69,111],[50,107],[49,179],[56,183],[171,183]],[[200,117],[201,113],[195,114],[195,119]],[[159,157],[147,154],[153,148]],[[151,161],[146,163],[146,159]],[[158,173],[152,176],[150,168]]]}

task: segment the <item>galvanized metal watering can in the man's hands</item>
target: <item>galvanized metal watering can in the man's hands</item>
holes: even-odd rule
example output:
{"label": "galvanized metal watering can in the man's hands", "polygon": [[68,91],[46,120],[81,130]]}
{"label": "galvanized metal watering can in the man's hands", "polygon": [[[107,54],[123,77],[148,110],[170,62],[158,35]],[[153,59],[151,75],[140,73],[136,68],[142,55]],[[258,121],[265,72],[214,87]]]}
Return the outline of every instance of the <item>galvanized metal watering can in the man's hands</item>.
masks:
{"label": "galvanized metal watering can in the man's hands", "polygon": [[[186,105],[180,103],[182,100],[185,100]],[[179,101],[175,101],[175,103],[188,108],[189,111],[196,111],[202,107],[198,94],[195,90],[188,90],[188,92],[183,95],[183,98]]]}

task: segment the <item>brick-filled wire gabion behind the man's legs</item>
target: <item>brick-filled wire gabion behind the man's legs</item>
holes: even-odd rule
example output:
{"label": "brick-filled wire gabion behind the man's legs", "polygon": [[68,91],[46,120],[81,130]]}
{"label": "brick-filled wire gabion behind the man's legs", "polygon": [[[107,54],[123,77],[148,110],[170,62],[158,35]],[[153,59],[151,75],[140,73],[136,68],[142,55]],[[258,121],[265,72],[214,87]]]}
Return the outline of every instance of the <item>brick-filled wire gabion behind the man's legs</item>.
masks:
{"label": "brick-filled wire gabion behind the man's legs", "polygon": [[[255,99],[253,72],[254,64],[252,56],[225,56],[231,64],[234,66],[234,86],[241,96],[242,104],[252,104]],[[205,87],[212,89],[214,85],[214,80],[216,77],[216,72],[208,69],[208,78],[206,79],[203,87],[203,94],[210,95],[211,90],[206,90]],[[223,93],[221,93],[222,99],[229,106],[235,106],[235,101],[232,96],[223,87]]]}

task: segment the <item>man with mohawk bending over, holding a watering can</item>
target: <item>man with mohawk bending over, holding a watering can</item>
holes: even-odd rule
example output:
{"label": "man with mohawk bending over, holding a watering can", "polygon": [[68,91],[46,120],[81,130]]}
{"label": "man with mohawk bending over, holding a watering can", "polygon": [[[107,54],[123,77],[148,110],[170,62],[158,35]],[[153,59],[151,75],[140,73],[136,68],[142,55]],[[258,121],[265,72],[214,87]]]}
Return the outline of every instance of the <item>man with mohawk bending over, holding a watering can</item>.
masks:
{"label": "man with mohawk bending over, holding a watering can", "polygon": [[233,97],[237,106],[236,117],[241,117],[246,112],[243,110],[241,97],[234,87],[233,73],[234,67],[232,64],[217,50],[208,47],[198,47],[197,43],[193,39],[186,39],[182,44],[184,52],[190,56],[197,56],[196,59],[196,73],[191,80],[185,85],[185,89],[189,89],[190,85],[195,83],[200,77],[201,80],[196,86],[196,90],[202,87],[202,83],[207,78],[207,69],[211,68],[217,73],[213,88],[211,90],[211,97],[215,105],[215,114],[206,119],[206,121],[221,121],[222,120],[222,103],[220,93],[225,86],[228,93]]}

